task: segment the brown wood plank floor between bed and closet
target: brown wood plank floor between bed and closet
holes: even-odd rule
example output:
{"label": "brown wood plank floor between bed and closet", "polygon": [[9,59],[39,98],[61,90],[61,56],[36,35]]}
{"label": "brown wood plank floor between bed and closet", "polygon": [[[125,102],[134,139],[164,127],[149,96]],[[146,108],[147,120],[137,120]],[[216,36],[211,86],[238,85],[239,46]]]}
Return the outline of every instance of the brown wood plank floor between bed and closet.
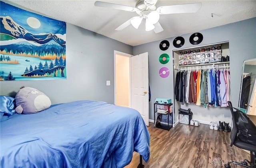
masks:
{"label": "brown wood plank floor between bed and closet", "polygon": [[[250,154],[235,146],[230,147],[230,133],[178,123],[166,131],[148,126],[150,133],[150,158],[145,168],[220,168],[228,161],[250,160]],[[137,168],[139,154],[125,168]],[[232,168],[236,166],[231,166]],[[237,166],[240,167],[240,166]]]}

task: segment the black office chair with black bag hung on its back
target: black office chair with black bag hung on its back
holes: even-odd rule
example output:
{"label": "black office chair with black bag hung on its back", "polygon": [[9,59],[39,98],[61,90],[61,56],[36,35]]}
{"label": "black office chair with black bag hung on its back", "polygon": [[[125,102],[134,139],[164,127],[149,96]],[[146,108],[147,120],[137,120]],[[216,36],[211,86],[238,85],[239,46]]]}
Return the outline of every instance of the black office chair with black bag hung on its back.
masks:
{"label": "black office chair with black bag hung on its back", "polygon": [[[250,119],[247,117],[246,114],[242,113],[242,111],[232,107],[232,103],[228,101],[228,105],[232,114],[232,121],[233,121],[233,128],[230,133],[230,140],[232,145],[235,145],[238,148],[242,148],[245,150],[250,151],[250,161],[245,159],[243,162],[228,162],[225,164],[225,168],[231,168],[230,164],[238,164],[240,166],[246,167],[246,168],[256,168],[256,141],[252,139],[250,136],[252,136],[250,133],[256,132],[256,126],[250,121]],[[234,111],[233,109],[236,109]],[[243,134],[243,131],[247,133],[249,138],[241,137]],[[248,134],[249,133],[249,134]],[[254,137],[256,135],[253,135]],[[248,165],[249,164],[249,165]]]}

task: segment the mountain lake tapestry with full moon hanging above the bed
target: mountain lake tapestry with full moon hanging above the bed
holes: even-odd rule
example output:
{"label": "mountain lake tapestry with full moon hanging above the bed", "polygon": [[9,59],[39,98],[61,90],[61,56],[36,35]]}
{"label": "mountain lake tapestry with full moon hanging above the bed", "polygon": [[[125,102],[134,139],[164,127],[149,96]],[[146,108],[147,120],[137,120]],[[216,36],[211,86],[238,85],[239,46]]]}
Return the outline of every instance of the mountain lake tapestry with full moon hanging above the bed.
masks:
{"label": "mountain lake tapestry with full moon hanging above the bed", "polygon": [[66,22],[0,1],[0,80],[66,79]]}

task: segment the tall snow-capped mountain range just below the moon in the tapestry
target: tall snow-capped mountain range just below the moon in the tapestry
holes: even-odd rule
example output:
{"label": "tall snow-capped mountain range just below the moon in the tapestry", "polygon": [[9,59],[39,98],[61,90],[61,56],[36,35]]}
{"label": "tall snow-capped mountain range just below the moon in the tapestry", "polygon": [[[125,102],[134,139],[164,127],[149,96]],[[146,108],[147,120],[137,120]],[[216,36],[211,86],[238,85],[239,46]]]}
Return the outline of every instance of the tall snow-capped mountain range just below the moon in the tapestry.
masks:
{"label": "tall snow-capped mountain range just below the moon in the tapestry", "polygon": [[10,16],[0,16],[0,29],[1,33],[6,35],[10,35],[16,39],[26,39],[28,41],[34,41],[39,44],[46,44],[49,41],[55,41],[61,47],[66,48],[66,41],[59,38],[57,35],[53,33],[40,33],[40,34],[32,34],[18,23],[16,23]]}

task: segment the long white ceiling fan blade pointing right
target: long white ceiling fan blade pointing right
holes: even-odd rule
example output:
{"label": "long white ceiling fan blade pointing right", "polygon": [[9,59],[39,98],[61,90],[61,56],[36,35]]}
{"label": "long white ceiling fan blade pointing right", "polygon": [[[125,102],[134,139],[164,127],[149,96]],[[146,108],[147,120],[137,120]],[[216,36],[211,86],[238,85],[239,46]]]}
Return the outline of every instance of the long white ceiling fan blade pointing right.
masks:
{"label": "long white ceiling fan blade pointing right", "polygon": [[195,13],[201,8],[201,6],[202,6],[202,3],[160,6],[156,9],[156,11],[158,11],[160,15]]}

